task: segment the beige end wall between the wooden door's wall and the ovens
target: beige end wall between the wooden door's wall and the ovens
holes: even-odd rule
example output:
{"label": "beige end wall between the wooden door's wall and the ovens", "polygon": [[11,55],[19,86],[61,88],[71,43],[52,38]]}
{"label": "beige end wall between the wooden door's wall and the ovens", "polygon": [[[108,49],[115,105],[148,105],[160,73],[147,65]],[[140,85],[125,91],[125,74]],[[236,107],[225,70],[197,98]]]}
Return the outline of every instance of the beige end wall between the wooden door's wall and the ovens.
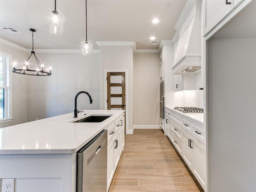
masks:
{"label": "beige end wall between the wooden door's wall and the ovens", "polygon": [[160,124],[159,53],[133,55],[134,128],[154,128]]}

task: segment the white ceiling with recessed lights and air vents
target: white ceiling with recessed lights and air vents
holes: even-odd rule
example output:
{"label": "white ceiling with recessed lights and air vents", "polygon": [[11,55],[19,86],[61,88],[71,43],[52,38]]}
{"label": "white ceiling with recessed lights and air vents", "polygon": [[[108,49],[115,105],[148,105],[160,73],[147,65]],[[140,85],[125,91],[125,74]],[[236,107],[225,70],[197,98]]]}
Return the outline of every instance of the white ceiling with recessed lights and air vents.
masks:
{"label": "white ceiling with recessed lights and air vents", "polygon": [[[87,0],[88,35],[96,41],[134,41],[137,49],[158,49],[161,40],[171,40],[174,25],[186,0]],[[11,27],[21,34],[0,29],[0,38],[27,49],[80,49],[86,39],[85,0],[57,0],[57,11],[66,18],[62,36],[47,32],[44,11],[54,9],[54,0],[0,0],[0,27]],[[153,24],[152,19],[160,22]],[[151,36],[158,45],[150,45]]]}

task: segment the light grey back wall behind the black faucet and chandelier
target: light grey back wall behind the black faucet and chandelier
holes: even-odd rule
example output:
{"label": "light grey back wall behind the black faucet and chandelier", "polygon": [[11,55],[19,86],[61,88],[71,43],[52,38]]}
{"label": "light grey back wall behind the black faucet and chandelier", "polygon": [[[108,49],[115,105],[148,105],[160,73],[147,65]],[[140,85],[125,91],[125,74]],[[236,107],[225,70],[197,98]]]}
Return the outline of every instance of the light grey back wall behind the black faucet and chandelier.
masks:
{"label": "light grey back wall behind the black faucet and chandelier", "polygon": [[28,121],[74,111],[79,91],[78,110],[100,109],[100,54],[36,53],[41,63],[52,66],[52,76],[28,76]]}

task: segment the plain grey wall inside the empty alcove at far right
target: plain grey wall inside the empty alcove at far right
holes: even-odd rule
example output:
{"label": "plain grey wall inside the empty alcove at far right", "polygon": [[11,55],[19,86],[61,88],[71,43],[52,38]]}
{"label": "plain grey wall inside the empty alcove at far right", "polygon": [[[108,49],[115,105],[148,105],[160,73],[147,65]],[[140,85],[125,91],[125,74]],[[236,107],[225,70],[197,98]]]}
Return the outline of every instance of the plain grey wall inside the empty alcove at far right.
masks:
{"label": "plain grey wall inside the empty alcove at far right", "polygon": [[208,41],[209,191],[256,191],[256,39]]}

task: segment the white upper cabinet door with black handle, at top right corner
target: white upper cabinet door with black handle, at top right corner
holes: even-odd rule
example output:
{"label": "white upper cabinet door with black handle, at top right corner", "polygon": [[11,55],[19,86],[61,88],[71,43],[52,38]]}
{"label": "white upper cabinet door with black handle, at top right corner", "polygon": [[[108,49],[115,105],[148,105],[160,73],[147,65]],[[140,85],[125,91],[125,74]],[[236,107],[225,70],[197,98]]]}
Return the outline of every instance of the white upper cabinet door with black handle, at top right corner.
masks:
{"label": "white upper cabinet door with black handle, at top right corner", "polygon": [[233,0],[204,0],[204,36],[226,18],[233,8]]}

